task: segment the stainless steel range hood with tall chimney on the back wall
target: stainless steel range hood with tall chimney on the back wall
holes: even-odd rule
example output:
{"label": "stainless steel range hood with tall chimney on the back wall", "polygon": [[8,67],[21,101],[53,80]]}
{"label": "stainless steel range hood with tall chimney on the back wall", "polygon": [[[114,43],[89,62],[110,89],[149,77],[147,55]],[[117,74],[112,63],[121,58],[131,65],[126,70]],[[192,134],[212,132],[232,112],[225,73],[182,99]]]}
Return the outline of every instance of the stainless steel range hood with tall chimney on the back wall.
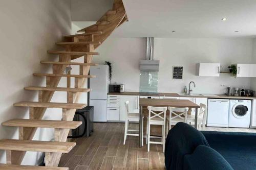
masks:
{"label": "stainless steel range hood with tall chimney on the back wall", "polygon": [[140,61],[140,70],[142,71],[159,71],[159,60],[154,58],[154,37],[146,38],[146,60]]}

